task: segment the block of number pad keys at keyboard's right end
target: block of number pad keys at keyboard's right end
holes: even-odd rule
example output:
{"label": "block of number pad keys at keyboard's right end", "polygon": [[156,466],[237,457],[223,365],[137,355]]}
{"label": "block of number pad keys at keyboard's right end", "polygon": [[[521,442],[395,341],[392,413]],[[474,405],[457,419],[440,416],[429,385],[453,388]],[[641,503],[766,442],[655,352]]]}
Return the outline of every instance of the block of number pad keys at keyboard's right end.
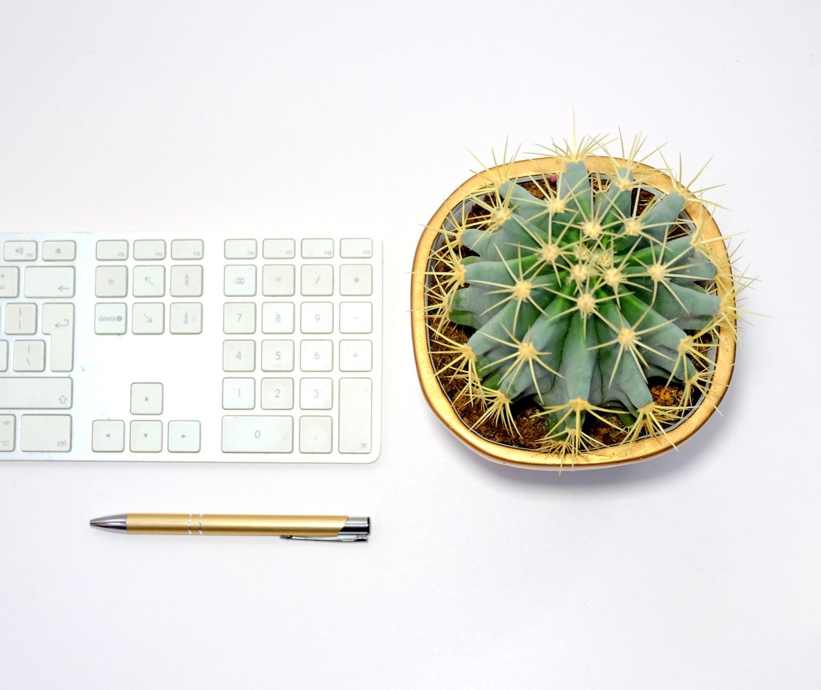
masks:
{"label": "block of number pad keys at keyboard's right end", "polygon": [[[227,336],[262,332],[268,338],[261,340],[258,352],[255,340],[224,340],[222,368],[237,375],[223,379],[222,408],[276,410],[286,415],[297,410],[303,414],[277,418],[276,423],[262,423],[263,418],[254,416],[225,417],[223,443],[227,447],[223,450],[254,452],[251,447],[266,446],[273,442],[270,438],[281,433],[273,446],[289,445],[291,427],[286,433],[285,419],[293,423],[293,433],[298,433],[300,452],[341,450],[334,448],[337,427],[333,420],[339,418],[342,405],[351,396],[345,400],[337,397],[351,386],[337,384],[351,381],[341,378],[351,376],[347,372],[360,376],[359,372],[367,372],[363,381],[369,382],[367,377],[374,369],[369,334],[374,327],[378,276],[368,261],[373,255],[369,239],[342,240],[338,247],[334,240],[325,238],[225,243],[228,261],[223,267],[223,293],[246,300],[224,301],[222,332]],[[300,262],[300,258],[305,261]],[[179,277],[172,275],[172,290],[179,285]],[[244,375],[239,376],[239,372]],[[252,377],[255,372],[264,374]],[[365,394],[360,397],[357,404],[367,409]],[[322,416],[328,414],[333,416]],[[351,436],[342,427],[338,434],[346,439]],[[361,437],[369,439],[369,434],[367,431]],[[346,443],[349,450],[344,452],[367,452],[360,436]],[[240,450],[242,444],[250,444],[249,449]]]}

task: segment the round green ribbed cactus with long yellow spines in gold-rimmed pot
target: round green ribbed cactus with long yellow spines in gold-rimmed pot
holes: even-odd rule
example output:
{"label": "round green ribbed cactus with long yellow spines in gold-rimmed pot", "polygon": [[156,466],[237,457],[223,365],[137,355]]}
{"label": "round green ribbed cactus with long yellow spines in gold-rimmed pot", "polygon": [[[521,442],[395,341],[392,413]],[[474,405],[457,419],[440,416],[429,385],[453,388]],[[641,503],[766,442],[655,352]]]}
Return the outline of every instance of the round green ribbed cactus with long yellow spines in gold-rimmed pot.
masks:
{"label": "round green ribbed cactus with long yellow spines in gold-rimmed pot", "polygon": [[[591,424],[620,442],[663,434],[709,387],[714,348],[736,332],[731,267],[702,233],[701,191],[669,167],[672,189],[654,188],[640,144],[622,143],[621,158],[600,139],[553,144],[553,176],[488,169],[438,228],[431,353],[457,408],[479,410],[475,427],[516,436],[526,401],[544,425],[535,447],[575,456],[603,444]],[[591,171],[594,153],[615,173]],[[688,215],[692,202],[704,216]]]}

